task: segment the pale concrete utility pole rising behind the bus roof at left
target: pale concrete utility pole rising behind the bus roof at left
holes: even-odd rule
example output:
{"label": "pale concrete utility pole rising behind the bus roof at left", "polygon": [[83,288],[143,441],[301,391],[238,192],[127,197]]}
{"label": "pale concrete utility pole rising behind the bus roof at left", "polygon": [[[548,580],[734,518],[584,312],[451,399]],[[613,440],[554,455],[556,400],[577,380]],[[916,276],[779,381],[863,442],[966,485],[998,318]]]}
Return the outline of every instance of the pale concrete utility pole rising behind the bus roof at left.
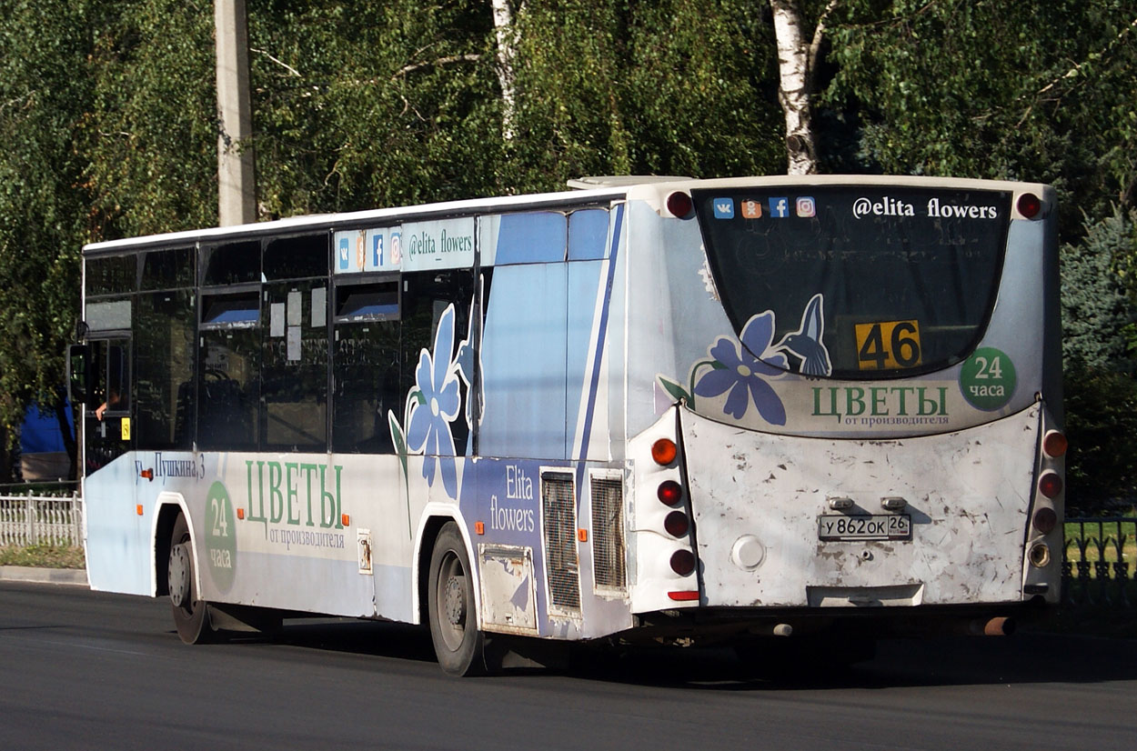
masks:
{"label": "pale concrete utility pole rising behind the bus roof at left", "polygon": [[214,0],[217,35],[217,225],[257,218],[244,0]]}

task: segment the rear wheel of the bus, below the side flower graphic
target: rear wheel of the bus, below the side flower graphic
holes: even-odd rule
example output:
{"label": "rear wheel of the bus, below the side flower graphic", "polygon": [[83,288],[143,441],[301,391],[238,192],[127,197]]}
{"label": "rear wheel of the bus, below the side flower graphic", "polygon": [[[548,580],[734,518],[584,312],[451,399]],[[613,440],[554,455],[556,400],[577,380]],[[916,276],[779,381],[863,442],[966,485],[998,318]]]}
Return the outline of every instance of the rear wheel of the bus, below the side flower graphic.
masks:
{"label": "rear wheel of the bus, below the side flower graphic", "polygon": [[430,635],[442,670],[455,676],[483,673],[484,639],[478,631],[473,573],[454,521],[448,521],[434,541],[426,601]]}

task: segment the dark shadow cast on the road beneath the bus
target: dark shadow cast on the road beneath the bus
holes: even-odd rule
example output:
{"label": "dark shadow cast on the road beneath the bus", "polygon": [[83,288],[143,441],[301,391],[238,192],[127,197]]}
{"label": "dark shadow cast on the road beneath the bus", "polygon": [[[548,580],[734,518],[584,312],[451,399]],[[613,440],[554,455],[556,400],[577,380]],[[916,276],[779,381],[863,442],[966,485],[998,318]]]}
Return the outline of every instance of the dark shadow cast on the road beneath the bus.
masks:
{"label": "dark shadow cast on the road beneath the bus", "polygon": [[[271,642],[434,662],[430,632],[420,626],[352,619],[288,621]],[[771,654],[777,657],[777,642]],[[504,669],[503,676],[561,675],[586,681],[723,691],[888,689],[1015,683],[1137,681],[1137,640],[1045,633],[1002,637],[885,639],[872,659],[855,665],[802,659],[791,664],[739,659],[730,648],[608,649],[573,645],[567,662]],[[492,679],[492,678],[491,678]]]}

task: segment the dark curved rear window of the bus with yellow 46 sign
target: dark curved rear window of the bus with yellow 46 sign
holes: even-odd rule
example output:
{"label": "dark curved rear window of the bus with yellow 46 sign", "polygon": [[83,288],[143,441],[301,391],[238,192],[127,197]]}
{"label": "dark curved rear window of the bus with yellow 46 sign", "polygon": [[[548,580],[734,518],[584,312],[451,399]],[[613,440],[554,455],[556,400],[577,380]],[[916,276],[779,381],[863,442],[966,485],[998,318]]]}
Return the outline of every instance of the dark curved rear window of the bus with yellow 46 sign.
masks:
{"label": "dark curved rear window of the bus with yellow 46 sign", "polygon": [[982,336],[1007,192],[815,185],[691,197],[736,333],[772,311],[772,344],[791,370],[914,375],[965,359]]}

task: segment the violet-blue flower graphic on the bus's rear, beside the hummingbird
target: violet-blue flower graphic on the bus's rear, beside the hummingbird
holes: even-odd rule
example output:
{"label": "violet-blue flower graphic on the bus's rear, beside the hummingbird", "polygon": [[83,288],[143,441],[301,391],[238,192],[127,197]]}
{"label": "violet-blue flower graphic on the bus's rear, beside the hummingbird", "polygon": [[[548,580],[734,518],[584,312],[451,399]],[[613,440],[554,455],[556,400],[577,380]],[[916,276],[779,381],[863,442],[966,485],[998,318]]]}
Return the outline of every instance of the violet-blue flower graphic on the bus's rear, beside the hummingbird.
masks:
{"label": "violet-blue flower graphic on the bus's rear, beside the hummingbird", "polygon": [[740,419],[753,399],[764,420],[771,425],[785,425],[786,407],[764,379],[777,378],[786,373],[786,356],[771,348],[773,337],[772,310],[746,322],[742,327],[742,347],[731,339],[720,336],[707,350],[714,358],[714,369],[703,374],[695,384],[695,393],[699,397],[717,397],[729,390],[723,414]]}

